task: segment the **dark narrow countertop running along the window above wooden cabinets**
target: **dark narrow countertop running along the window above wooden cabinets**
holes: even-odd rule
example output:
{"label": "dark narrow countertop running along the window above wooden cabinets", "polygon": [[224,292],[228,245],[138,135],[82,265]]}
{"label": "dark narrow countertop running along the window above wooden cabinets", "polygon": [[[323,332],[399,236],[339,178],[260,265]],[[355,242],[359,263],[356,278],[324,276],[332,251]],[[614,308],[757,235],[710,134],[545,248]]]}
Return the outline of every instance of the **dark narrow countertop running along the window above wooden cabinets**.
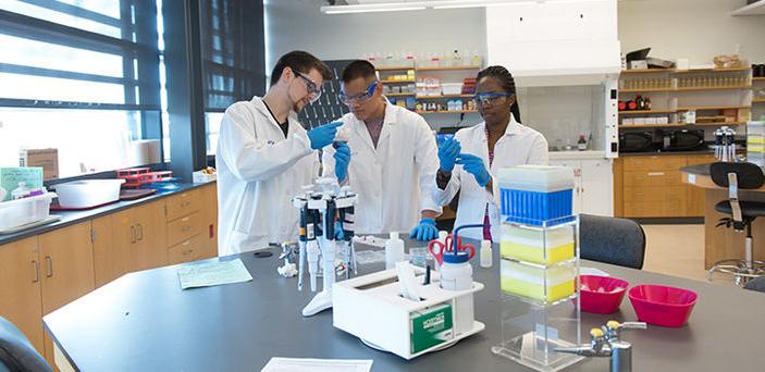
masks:
{"label": "dark narrow countertop running along the window above wooden cabinets", "polygon": [[[214,181],[212,181],[214,183]],[[150,201],[156,201],[161,198],[165,198],[172,195],[175,195],[177,193],[183,193],[187,191],[197,187],[202,187],[206,185],[209,185],[210,183],[199,183],[199,184],[178,184],[177,188],[172,189],[172,190],[159,190],[157,194],[140,198],[137,200],[128,200],[128,201],[118,201],[111,204],[107,204],[103,207],[98,207],[89,210],[84,210],[84,211],[51,211],[51,214],[54,215],[60,215],[61,220],[49,223],[47,225],[41,225],[41,226],[36,226],[36,227],[29,227],[27,230],[17,232],[17,233],[12,233],[12,234],[4,234],[0,235],[0,246],[20,240],[26,237],[35,236],[38,234],[47,233],[53,230],[58,230],[61,227],[66,227],[70,225],[77,224],[79,222],[84,222],[90,219],[95,219],[104,214],[111,214],[114,212],[119,212],[122,210],[125,210],[127,208],[140,206],[143,203],[147,203]]]}

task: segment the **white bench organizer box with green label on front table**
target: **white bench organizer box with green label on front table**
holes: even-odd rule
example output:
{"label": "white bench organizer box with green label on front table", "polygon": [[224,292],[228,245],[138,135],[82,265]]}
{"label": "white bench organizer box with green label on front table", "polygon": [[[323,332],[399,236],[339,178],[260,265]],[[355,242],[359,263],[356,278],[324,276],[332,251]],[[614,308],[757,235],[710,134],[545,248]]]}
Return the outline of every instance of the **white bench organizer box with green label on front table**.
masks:
{"label": "white bench organizer box with green label on front table", "polygon": [[[408,264],[406,262],[402,264]],[[459,339],[483,331],[485,325],[473,319],[472,311],[457,305],[469,300],[483,284],[472,282],[466,290],[447,290],[433,282],[422,284],[422,268],[414,268],[417,293],[421,300],[402,296],[395,269],[335,283],[332,309],[333,325],[348,332],[377,349],[393,352],[404,359],[443,349]],[[457,324],[470,324],[459,328]]]}

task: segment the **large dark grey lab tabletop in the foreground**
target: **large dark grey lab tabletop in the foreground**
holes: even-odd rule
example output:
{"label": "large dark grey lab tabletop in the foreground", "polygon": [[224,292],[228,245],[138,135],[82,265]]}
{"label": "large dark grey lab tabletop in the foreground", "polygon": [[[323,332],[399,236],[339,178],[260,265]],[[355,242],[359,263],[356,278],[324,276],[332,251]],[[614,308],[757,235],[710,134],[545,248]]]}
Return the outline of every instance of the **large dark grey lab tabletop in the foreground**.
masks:
{"label": "large dark grey lab tabletop in the foreground", "polygon": [[[181,290],[181,266],[160,268],[122,276],[44,322],[67,361],[81,371],[257,371],[272,357],[372,359],[372,371],[530,371],[491,352],[502,338],[497,248],[491,269],[480,269],[472,260],[473,278],[485,285],[474,298],[476,319],[485,323],[485,330],[410,361],[371,349],[333,327],[331,311],[300,317],[312,294],[307,288],[298,292],[296,278],[276,274],[277,251],[271,258],[250,252],[211,259],[242,259],[251,282]],[[582,265],[624,278],[630,287],[663,284],[699,295],[686,326],[649,325],[624,334],[633,345],[634,371],[738,371],[764,365],[765,318],[757,314],[765,309],[765,295],[592,261]],[[587,342],[590,327],[637,317],[625,296],[616,313],[582,312],[581,319]],[[607,358],[589,358],[567,369],[607,370]]]}

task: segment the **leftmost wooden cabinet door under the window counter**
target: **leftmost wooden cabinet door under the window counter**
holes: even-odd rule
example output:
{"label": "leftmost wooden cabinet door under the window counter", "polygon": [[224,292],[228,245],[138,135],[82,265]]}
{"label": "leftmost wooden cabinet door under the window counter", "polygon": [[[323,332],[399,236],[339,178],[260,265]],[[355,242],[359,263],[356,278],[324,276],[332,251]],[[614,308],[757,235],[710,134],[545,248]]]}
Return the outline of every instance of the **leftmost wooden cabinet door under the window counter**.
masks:
{"label": "leftmost wooden cabinet door under the window counter", "polygon": [[8,319],[42,352],[42,271],[37,237],[0,247],[0,315]]}

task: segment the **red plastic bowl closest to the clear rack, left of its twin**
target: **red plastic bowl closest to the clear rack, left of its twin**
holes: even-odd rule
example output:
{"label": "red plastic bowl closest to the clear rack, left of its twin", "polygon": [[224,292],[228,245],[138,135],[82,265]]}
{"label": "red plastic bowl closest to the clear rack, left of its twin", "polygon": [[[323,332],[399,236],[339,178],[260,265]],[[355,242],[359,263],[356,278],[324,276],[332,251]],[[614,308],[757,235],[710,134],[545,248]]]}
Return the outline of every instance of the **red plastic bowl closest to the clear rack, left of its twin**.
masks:
{"label": "red plastic bowl closest to the clear rack, left of its twin", "polygon": [[620,278],[597,275],[579,276],[582,311],[609,314],[619,310],[629,283]]}

